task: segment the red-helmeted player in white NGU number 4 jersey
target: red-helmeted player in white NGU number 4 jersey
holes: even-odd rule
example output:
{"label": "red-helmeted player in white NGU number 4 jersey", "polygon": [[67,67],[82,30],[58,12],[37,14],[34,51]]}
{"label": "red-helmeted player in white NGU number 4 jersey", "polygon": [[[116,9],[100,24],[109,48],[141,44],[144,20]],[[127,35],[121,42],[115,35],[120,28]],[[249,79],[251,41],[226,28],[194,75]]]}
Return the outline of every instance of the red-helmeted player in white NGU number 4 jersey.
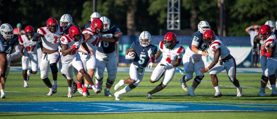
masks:
{"label": "red-helmeted player in white NGU number 4 jersey", "polygon": [[164,40],[160,42],[160,50],[155,56],[157,60],[161,54],[162,60],[154,69],[150,82],[155,83],[159,81],[160,77],[163,76],[161,84],[157,85],[152,91],[147,93],[147,99],[152,99],[152,94],[161,91],[168,85],[173,79],[176,67],[178,67],[184,54],[184,47],[178,45],[177,36],[173,32],[168,32],[164,35]]}

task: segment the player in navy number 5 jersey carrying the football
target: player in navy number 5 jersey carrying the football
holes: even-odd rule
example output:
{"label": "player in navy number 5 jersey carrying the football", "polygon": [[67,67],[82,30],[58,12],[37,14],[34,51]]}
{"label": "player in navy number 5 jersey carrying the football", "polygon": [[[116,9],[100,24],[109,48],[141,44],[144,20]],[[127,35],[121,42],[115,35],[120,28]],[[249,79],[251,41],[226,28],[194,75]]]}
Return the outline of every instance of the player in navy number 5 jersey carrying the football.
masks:
{"label": "player in navy number 5 jersey carrying the football", "polygon": [[[154,46],[151,43],[151,34],[147,31],[144,31],[139,36],[139,42],[134,41],[131,45],[131,48],[125,54],[126,59],[134,59],[133,63],[130,66],[130,78],[126,80],[120,80],[119,83],[115,85],[115,90],[119,89],[124,84],[129,84],[125,86],[118,92],[115,92],[115,100],[120,100],[119,95],[131,91],[139,85],[143,79],[145,72],[145,67],[149,60],[151,61],[148,65],[148,68],[152,68],[154,63],[154,57],[157,53],[157,46]],[[135,52],[136,55],[131,54]]]}

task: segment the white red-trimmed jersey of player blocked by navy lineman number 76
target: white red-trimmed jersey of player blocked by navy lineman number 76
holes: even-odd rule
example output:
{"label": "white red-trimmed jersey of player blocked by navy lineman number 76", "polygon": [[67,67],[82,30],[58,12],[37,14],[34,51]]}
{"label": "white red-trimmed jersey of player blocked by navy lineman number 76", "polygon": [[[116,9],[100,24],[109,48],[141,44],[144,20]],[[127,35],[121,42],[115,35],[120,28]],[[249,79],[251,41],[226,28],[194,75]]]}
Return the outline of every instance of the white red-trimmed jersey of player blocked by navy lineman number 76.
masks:
{"label": "white red-trimmed jersey of player blocked by navy lineman number 76", "polygon": [[[82,33],[93,35],[93,38],[87,40],[87,47],[89,48],[89,50],[92,50],[95,53],[97,48],[98,48],[99,42],[100,42],[100,35],[101,34],[98,34],[98,35],[94,34],[92,32],[91,28],[87,28],[87,29],[83,30]],[[85,49],[83,49],[82,47],[80,48],[80,50],[82,52],[87,53],[87,51]]]}

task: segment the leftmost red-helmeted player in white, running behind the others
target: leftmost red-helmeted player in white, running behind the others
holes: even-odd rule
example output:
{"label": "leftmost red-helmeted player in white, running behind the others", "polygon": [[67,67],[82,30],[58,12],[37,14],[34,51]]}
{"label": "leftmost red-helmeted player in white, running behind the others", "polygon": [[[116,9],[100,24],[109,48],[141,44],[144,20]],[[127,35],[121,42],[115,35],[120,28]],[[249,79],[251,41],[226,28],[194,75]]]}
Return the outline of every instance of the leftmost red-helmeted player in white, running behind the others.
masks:
{"label": "leftmost red-helmeted player in white, running behind the others", "polygon": [[[40,44],[42,48],[41,40],[32,41],[34,36],[35,29],[32,26],[27,26],[25,28],[25,34],[19,36],[19,46],[21,50],[21,59],[22,59],[22,76],[24,80],[23,87],[29,87],[28,80],[30,79],[30,74],[36,74],[38,71],[38,52],[37,45]],[[29,63],[31,63],[32,69],[29,70]]]}

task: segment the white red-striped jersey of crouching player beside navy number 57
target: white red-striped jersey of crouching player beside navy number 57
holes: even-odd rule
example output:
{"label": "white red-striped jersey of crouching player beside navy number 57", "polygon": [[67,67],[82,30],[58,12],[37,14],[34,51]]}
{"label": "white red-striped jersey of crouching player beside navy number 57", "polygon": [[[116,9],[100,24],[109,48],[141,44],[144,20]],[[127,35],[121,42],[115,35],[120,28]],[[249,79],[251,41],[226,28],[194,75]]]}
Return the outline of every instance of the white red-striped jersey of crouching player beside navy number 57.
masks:
{"label": "white red-striped jersey of crouching player beside navy number 57", "polygon": [[230,54],[230,50],[225,46],[225,44],[218,37],[216,37],[214,42],[212,42],[209,45],[209,48],[212,54],[214,54],[214,50],[220,48],[219,60],[224,59]]}

